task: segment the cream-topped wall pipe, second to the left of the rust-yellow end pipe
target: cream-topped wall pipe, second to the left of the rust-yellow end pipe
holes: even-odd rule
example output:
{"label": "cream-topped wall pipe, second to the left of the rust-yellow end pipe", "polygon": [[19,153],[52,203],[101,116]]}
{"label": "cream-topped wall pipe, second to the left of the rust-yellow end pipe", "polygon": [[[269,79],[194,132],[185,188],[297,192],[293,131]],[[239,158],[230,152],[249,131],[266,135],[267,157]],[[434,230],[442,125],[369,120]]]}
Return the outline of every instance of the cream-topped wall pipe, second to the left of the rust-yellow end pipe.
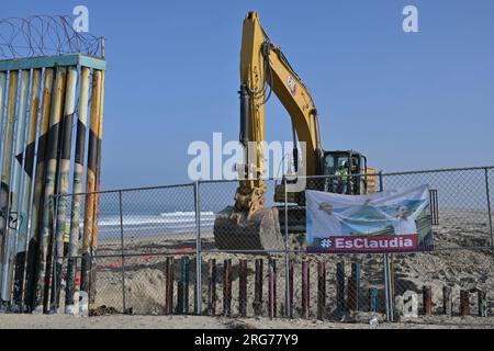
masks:
{"label": "cream-topped wall pipe, second to the left of the rust-yellow end pipe", "polygon": [[[61,121],[61,139],[60,139],[60,173],[58,193],[65,195],[69,189],[69,171],[70,171],[70,151],[72,143],[72,125],[74,115],[76,114],[76,89],[77,89],[77,67],[67,69],[67,86],[65,91],[65,111]],[[56,310],[60,299],[61,286],[61,267],[64,264],[64,237],[67,226],[68,197],[61,196],[57,199],[57,217],[55,233],[55,276],[53,279],[52,288],[52,308]]]}

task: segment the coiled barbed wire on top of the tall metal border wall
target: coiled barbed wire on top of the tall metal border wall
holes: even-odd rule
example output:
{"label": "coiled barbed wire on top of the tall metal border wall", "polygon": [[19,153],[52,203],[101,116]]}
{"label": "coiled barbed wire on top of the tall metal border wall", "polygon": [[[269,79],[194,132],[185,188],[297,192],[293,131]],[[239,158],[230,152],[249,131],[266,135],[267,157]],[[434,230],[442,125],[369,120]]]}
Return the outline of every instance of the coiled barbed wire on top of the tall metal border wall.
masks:
{"label": "coiled barbed wire on top of the tall metal border wall", "polygon": [[76,32],[69,15],[0,19],[0,59],[71,53],[101,56],[101,38]]}

